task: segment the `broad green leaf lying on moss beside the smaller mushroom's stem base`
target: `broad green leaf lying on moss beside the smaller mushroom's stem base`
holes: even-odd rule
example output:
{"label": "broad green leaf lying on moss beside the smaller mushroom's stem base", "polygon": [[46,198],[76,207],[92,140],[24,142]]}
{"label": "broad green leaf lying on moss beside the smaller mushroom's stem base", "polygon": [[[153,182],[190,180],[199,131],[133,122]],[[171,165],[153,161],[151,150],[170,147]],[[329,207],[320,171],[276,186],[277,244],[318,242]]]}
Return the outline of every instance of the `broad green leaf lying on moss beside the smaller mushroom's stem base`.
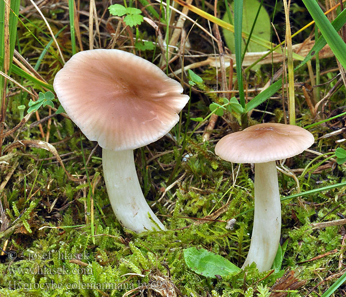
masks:
{"label": "broad green leaf lying on moss beside the smaller mushroom's stem base", "polygon": [[204,248],[189,247],[184,250],[186,265],[194,272],[206,277],[225,277],[239,272],[241,269],[220,255]]}

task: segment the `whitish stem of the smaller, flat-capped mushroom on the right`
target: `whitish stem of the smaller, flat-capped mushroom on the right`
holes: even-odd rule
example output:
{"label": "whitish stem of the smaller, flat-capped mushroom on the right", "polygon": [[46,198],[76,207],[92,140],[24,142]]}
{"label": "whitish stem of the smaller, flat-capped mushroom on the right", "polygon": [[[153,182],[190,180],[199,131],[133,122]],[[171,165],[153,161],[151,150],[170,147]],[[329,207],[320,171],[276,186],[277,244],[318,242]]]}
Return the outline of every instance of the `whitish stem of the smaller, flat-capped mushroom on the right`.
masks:
{"label": "whitish stem of the smaller, flat-capped mushroom on the right", "polygon": [[269,270],[280,241],[281,204],[275,161],[255,164],[255,215],[251,244],[243,267],[255,262]]}

